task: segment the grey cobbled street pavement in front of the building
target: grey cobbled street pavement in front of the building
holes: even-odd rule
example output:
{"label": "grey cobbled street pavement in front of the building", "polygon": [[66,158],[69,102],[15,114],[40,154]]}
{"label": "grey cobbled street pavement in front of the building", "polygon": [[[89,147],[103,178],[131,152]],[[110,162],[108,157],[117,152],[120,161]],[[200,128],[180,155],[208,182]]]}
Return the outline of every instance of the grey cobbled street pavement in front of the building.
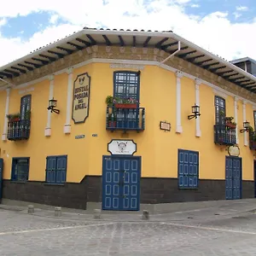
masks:
{"label": "grey cobbled street pavement in front of the building", "polygon": [[1,256],[256,255],[256,203],[150,216],[0,208]]}

